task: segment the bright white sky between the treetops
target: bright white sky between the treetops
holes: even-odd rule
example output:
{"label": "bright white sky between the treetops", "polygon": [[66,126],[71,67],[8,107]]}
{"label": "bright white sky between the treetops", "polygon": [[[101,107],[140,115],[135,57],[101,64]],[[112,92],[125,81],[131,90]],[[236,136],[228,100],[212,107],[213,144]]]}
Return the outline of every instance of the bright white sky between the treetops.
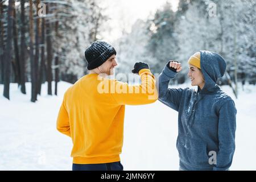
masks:
{"label": "bright white sky between the treetops", "polygon": [[106,14],[112,18],[108,21],[110,29],[103,34],[104,39],[109,42],[118,39],[124,28],[129,32],[137,19],[146,20],[167,1],[176,11],[179,0],[102,0],[102,6],[108,7]]}

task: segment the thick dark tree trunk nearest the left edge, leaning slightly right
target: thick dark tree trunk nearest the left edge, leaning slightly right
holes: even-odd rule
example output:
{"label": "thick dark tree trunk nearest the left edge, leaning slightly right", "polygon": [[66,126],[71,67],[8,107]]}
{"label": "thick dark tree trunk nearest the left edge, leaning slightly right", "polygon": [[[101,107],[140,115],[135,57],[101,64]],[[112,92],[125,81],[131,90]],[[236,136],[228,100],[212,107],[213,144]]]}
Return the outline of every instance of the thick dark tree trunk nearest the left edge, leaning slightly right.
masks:
{"label": "thick dark tree trunk nearest the left edge, leaning slightly right", "polygon": [[13,38],[13,0],[9,0],[8,5],[8,24],[7,24],[7,44],[5,51],[5,75],[3,96],[10,100],[10,71],[11,71],[11,41]]}

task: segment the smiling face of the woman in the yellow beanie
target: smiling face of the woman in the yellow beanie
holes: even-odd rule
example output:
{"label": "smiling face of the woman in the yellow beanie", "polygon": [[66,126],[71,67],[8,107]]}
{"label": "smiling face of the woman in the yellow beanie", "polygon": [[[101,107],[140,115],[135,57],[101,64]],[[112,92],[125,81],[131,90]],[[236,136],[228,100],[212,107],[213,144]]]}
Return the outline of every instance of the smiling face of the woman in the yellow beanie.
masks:
{"label": "smiling face of the woman in the yellow beanie", "polygon": [[205,84],[204,76],[199,68],[195,67],[192,64],[189,64],[188,77],[191,79],[192,86],[199,86],[200,89],[203,89]]}

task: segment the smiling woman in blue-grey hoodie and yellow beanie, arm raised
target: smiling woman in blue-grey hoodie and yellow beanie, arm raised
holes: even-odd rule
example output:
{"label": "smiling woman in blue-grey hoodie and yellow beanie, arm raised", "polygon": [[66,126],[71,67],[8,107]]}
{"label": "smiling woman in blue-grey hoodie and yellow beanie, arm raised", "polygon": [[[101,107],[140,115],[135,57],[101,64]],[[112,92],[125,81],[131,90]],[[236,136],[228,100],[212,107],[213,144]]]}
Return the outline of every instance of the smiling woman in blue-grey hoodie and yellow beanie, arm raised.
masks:
{"label": "smiling woman in blue-grey hoodie and yellow beanie, arm raised", "polygon": [[194,89],[171,89],[181,64],[169,61],[158,78],[159,101],[179,112],[181,170],[228,170],[235,150],[236,106],[217,85],[226,62],[218,53],[200,51],[188,60]]}

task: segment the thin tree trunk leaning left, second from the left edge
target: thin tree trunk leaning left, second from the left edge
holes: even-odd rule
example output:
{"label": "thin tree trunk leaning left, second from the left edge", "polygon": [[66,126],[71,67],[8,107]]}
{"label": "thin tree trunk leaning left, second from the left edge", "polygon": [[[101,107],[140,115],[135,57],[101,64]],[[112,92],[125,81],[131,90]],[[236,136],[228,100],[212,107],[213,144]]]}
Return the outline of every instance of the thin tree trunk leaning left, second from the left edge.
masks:
{"label": "thin tree trunk leaning left, second from the left edge", "polygon": [[16,10],[15,3],[13,9],[13,44],[14,44],[14,53],[15,53],[15,81],[20,85],[20,61],[19,61],[19,48],[18,48],[18,31],[16,27]]}

